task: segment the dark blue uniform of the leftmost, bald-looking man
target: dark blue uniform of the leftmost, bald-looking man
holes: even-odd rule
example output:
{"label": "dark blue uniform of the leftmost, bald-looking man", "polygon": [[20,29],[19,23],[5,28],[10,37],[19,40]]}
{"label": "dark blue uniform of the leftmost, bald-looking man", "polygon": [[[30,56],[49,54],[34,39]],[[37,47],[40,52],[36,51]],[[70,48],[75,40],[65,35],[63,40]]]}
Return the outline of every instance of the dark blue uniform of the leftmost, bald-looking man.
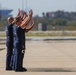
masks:
{"label": "dark blue uniform of the leftmost, bald-looking man", "polygon": [[13,52],[13,24],[8,24],[6,26],[6,46],[7,46],[7,54],[6,54],[6,70],[11,70],[11,57]]}

